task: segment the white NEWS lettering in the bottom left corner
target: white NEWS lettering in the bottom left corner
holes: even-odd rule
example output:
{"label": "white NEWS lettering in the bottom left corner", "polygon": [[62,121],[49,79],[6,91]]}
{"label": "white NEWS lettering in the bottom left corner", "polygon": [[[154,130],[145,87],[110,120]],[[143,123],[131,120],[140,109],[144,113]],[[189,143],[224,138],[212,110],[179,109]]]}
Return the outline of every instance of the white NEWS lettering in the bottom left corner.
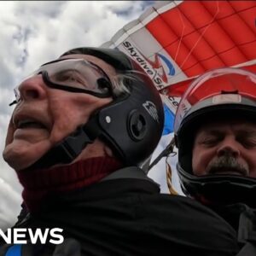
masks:
{"label": "white NEWS lettering in the bottom left corner", "polygon": [[[47,241],[53,244],[61,244],[64,241],[64,237],[60,234],[63,230],[59,228],[54,229],[7,229],[4,233],[3,230],[0,229],[0,237],[7,244],[26,244],[27,241],[32,244],[36,244],[40,242],[41,244],[45,244]],[[28,240],[26,240],[26,235],[28,236]],[[50,239],[49,239],[50,238]]]}

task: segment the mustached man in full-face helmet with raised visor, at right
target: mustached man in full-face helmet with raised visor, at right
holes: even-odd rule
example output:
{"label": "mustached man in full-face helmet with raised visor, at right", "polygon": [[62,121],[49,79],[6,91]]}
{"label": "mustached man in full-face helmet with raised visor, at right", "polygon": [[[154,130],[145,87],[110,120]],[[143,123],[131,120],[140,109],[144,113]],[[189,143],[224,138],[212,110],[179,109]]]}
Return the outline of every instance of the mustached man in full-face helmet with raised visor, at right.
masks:
{"label": "mustached man in full-face helmet with raised visor, at right", "polygon": [[255,117],[256,75],[226,67],[189,86],[175,120],[184,193],[236,230],[245,256],[256,255]]}

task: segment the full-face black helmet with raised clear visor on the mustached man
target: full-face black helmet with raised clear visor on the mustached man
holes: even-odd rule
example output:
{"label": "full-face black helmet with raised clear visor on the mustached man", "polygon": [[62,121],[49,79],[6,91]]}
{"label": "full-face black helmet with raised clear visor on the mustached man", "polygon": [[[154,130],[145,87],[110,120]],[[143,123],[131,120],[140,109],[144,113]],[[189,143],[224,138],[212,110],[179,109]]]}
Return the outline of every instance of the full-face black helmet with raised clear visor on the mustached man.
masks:
{"label": "full-face black helmet with raised clear visor on the mustached man", "polygon": [[185,91],[177,108],[174,132],[178,148],[177,172],[186,195],[209,203],[256,205],[256,178],[195,176],[192,172],[192,148],[200,125],[207,119],[237,116],[256,120],[255,73],[239,68],[218,68],[195,79]]}

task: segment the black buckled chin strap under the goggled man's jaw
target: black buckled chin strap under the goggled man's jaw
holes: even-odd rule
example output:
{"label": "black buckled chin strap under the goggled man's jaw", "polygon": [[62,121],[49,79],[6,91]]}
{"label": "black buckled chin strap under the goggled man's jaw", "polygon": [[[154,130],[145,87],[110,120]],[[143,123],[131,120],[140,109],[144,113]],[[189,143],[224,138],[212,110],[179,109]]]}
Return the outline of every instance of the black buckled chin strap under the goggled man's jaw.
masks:
{"label": "black buckled chin strap under the goggled man's jaw", "polygon": [[46,154],[25,170],[46,169],[57,164],[67,165],[73,162],[84,148],[93,143],[102,133],[100,127],[96,125],[96,119],[97,115],[85,125],[79,126],[76,131],[65,137],[55,147],[50,148]]}

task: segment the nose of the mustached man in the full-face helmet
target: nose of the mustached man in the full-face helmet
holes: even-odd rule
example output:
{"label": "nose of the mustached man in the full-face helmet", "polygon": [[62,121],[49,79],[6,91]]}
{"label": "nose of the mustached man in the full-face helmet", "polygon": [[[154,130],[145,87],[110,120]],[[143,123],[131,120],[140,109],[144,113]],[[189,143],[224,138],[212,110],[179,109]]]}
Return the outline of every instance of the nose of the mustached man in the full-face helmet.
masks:
{"label": "nose of the mustached man in the full-face helmet", "polygon": [[239,143],[236,142],[235,137],[225,138],[224,141],[220,144],[217,150],[218,156],[223,156],[224,154],[230,154],[233,157],[240,155]]}

